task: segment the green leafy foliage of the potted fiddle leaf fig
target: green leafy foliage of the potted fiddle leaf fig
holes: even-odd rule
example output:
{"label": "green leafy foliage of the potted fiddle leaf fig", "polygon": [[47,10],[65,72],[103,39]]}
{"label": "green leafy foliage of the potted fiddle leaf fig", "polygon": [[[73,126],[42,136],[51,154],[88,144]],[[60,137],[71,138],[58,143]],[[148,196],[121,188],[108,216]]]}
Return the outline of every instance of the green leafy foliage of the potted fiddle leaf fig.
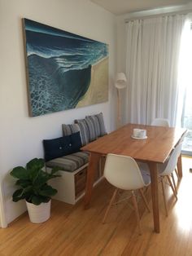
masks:
{"label": "green leafy foliage of the potted fiddle leaf fig", "polygon": [[17,189],[12,196],[13,201],[25,199],[34,205],[40,205],[42,202],[50,201],[51,196],[55,196],[57,190],[48,185],[48,180],[59,177],[55,174],[59,167],[54,167],[50,173],[42,170],[45,166],[45,161],[42,158],[34,158],[29,161],[26,167],[17,166],[11,170],[11,176],[17,181],[15,185]]}

